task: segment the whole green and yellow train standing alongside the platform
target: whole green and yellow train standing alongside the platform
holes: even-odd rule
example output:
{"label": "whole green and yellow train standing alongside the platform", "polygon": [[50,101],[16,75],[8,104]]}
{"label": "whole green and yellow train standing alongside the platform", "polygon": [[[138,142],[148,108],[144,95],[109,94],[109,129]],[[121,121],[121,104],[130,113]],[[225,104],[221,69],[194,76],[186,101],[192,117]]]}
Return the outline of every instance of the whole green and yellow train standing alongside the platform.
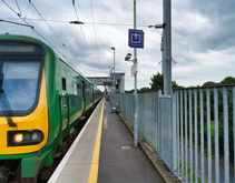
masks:
{"label": "whole green and yellow train standing alongside the platform", "polygon": [[102,98],[58,51],[32,37],[0,34],[0,183],[36,183]]}

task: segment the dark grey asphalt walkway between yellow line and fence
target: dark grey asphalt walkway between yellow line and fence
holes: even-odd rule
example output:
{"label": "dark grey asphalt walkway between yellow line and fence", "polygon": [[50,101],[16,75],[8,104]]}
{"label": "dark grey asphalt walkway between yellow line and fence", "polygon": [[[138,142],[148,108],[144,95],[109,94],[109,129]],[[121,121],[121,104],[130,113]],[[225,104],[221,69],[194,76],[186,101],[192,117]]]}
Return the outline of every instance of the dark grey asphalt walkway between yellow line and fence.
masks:
{"label": "dark grey asphalt walkway between yellow line and fence", "polygon": [[98,183],[163,183],[141,148],[111,105],[105,102]]}

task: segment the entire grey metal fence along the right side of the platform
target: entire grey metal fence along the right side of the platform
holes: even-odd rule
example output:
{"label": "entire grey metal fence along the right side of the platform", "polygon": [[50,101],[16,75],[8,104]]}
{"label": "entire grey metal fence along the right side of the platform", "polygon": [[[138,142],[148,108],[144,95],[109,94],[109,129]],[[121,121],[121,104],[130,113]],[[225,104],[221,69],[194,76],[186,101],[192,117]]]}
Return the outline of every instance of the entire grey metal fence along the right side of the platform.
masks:
{"label": "entire grey metal fence along the right side of the platform", "polygon": [[[167,167],[184,182],[235,183],[235,85],[160,93],[138,93],[138,132]],[[110,100],[134,124],[134,95]]]}

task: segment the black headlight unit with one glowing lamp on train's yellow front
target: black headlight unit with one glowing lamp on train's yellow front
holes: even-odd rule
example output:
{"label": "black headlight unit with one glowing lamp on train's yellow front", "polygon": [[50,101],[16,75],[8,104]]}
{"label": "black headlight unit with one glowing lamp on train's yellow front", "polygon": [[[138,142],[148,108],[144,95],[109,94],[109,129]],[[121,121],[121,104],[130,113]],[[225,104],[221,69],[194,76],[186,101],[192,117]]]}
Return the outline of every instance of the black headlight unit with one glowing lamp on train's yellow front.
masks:
{"label": "black headlight unit with one glowing lamp on train's yellow front", "polygon": [[8,131],[8,146],[35,145],[43,141],[40,130]]}

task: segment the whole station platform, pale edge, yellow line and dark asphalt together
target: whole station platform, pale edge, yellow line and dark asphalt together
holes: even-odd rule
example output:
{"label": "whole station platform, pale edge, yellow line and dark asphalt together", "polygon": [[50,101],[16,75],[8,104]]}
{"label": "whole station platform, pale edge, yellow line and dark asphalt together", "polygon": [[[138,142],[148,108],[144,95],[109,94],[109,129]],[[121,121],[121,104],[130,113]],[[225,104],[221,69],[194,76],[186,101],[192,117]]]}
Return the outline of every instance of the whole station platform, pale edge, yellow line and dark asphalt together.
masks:
{"label": "whole station platform, pale edge, yellow line and dark asphalt together", "polygon": [[48,183],[164,183],[120,116],[102,99]]}

